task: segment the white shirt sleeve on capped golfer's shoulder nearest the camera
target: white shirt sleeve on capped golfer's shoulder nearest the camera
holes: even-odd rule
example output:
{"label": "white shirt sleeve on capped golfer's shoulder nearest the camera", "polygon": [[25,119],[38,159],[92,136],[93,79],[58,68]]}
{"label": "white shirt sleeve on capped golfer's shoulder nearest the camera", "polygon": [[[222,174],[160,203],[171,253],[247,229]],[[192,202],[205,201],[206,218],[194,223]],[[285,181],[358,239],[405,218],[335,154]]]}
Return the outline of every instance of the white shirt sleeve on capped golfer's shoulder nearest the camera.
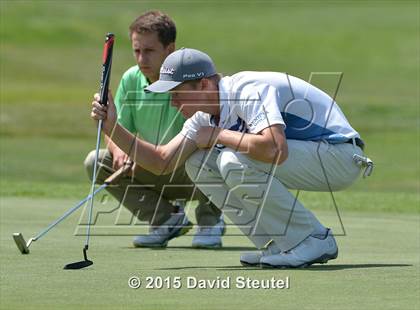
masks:
{"label": "white shirt sleeve on capped golfer's shoulder nearest the camera", "polygon": [[286,127],[280,113],[280,94],[268,84],[249,84],[238,93],[238,115],[246,122],[250,133],[280,124]]}

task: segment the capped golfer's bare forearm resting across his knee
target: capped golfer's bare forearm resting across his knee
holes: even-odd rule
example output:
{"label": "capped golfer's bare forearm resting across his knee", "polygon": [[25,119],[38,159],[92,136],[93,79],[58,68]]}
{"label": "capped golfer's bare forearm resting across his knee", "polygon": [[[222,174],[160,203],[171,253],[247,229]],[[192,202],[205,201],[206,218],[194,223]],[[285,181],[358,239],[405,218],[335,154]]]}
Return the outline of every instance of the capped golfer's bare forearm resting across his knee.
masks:
{"label": "capped golfer's bare forearm resting across his knee", "polygon": [[217,142],[241,153],[245,153],[252,159],[266,163],[282,163],[287,154],[273,141],[258,134],[247,134],[232,130],[222,130]]}

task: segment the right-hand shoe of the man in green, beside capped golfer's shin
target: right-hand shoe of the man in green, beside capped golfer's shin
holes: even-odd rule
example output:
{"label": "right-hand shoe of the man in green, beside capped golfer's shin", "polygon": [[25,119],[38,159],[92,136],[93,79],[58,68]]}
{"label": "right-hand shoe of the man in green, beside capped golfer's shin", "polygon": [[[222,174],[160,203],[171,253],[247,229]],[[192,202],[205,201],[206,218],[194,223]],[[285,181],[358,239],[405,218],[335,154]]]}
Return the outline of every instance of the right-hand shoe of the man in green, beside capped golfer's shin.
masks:
{"label": "right-hand shoe of the man in green, beside capped golfer's shin", "polygon": [[225,234],[226,225],[221,217],[219,222],[212,227],[198,226],[192,241],[193,248],[217,249],[222,247],[222,236]]}

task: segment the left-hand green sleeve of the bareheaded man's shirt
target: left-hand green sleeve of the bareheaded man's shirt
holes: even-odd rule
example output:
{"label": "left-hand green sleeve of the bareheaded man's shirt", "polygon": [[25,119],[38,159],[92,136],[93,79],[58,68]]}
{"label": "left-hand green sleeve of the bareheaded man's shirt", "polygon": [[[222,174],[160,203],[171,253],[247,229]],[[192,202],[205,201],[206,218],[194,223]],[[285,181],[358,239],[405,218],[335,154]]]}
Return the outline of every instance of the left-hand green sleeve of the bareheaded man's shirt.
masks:
{"label": "left-hand green sleeve of the bareheaded man's shirt", "polygon": [[129,78],[130,76],[128,74],[123,75],[117,93],[115,94],[114,104],[117,109],[117,122],[128,131],[135,132],[136,128],[134,126],[133,115],[131,114],[130,101],[127,100],[127,86],[130,84]]}

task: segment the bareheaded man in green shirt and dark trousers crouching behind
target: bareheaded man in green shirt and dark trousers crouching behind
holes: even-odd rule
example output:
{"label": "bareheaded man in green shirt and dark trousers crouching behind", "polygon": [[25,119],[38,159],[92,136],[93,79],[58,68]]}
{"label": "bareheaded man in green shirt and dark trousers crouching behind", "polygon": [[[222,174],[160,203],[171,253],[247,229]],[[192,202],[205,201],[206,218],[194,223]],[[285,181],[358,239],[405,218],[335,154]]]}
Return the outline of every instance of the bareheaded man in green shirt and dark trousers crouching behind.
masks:
{"label": "bareheaded man in green shirt and dark trousers crouching behind", "polygon": [[[150,143],[165,144],[181,131],[185,119],[170,105],[168,93],[146,93],[144,89],[159,79],[163,61],[175,50],[175,23],[162,12],[149,11],[136,18],[129,29],[137,65],[124,73],[115,96],[118,123],[134,134],[141,133],[141,138]],[[100,151],[98,183],[128,160],[127,154],[108,136],[105,141],[108,147]],[[94,151],[85,160],[89,176],[93,165]],[[108,191],[139,220],[150,224],[150,233],[136,237],[135,246],[165,247],[169,240],[185,234],[192,223],[174,201],[192,198],[199,201],[193,247],[222,245],[224,222],[221,211],[197,188],[194,190],[183,165],[170,175],[155,175],[136,166],[132,176],[121,179],[117,187],[109,187]]]}

